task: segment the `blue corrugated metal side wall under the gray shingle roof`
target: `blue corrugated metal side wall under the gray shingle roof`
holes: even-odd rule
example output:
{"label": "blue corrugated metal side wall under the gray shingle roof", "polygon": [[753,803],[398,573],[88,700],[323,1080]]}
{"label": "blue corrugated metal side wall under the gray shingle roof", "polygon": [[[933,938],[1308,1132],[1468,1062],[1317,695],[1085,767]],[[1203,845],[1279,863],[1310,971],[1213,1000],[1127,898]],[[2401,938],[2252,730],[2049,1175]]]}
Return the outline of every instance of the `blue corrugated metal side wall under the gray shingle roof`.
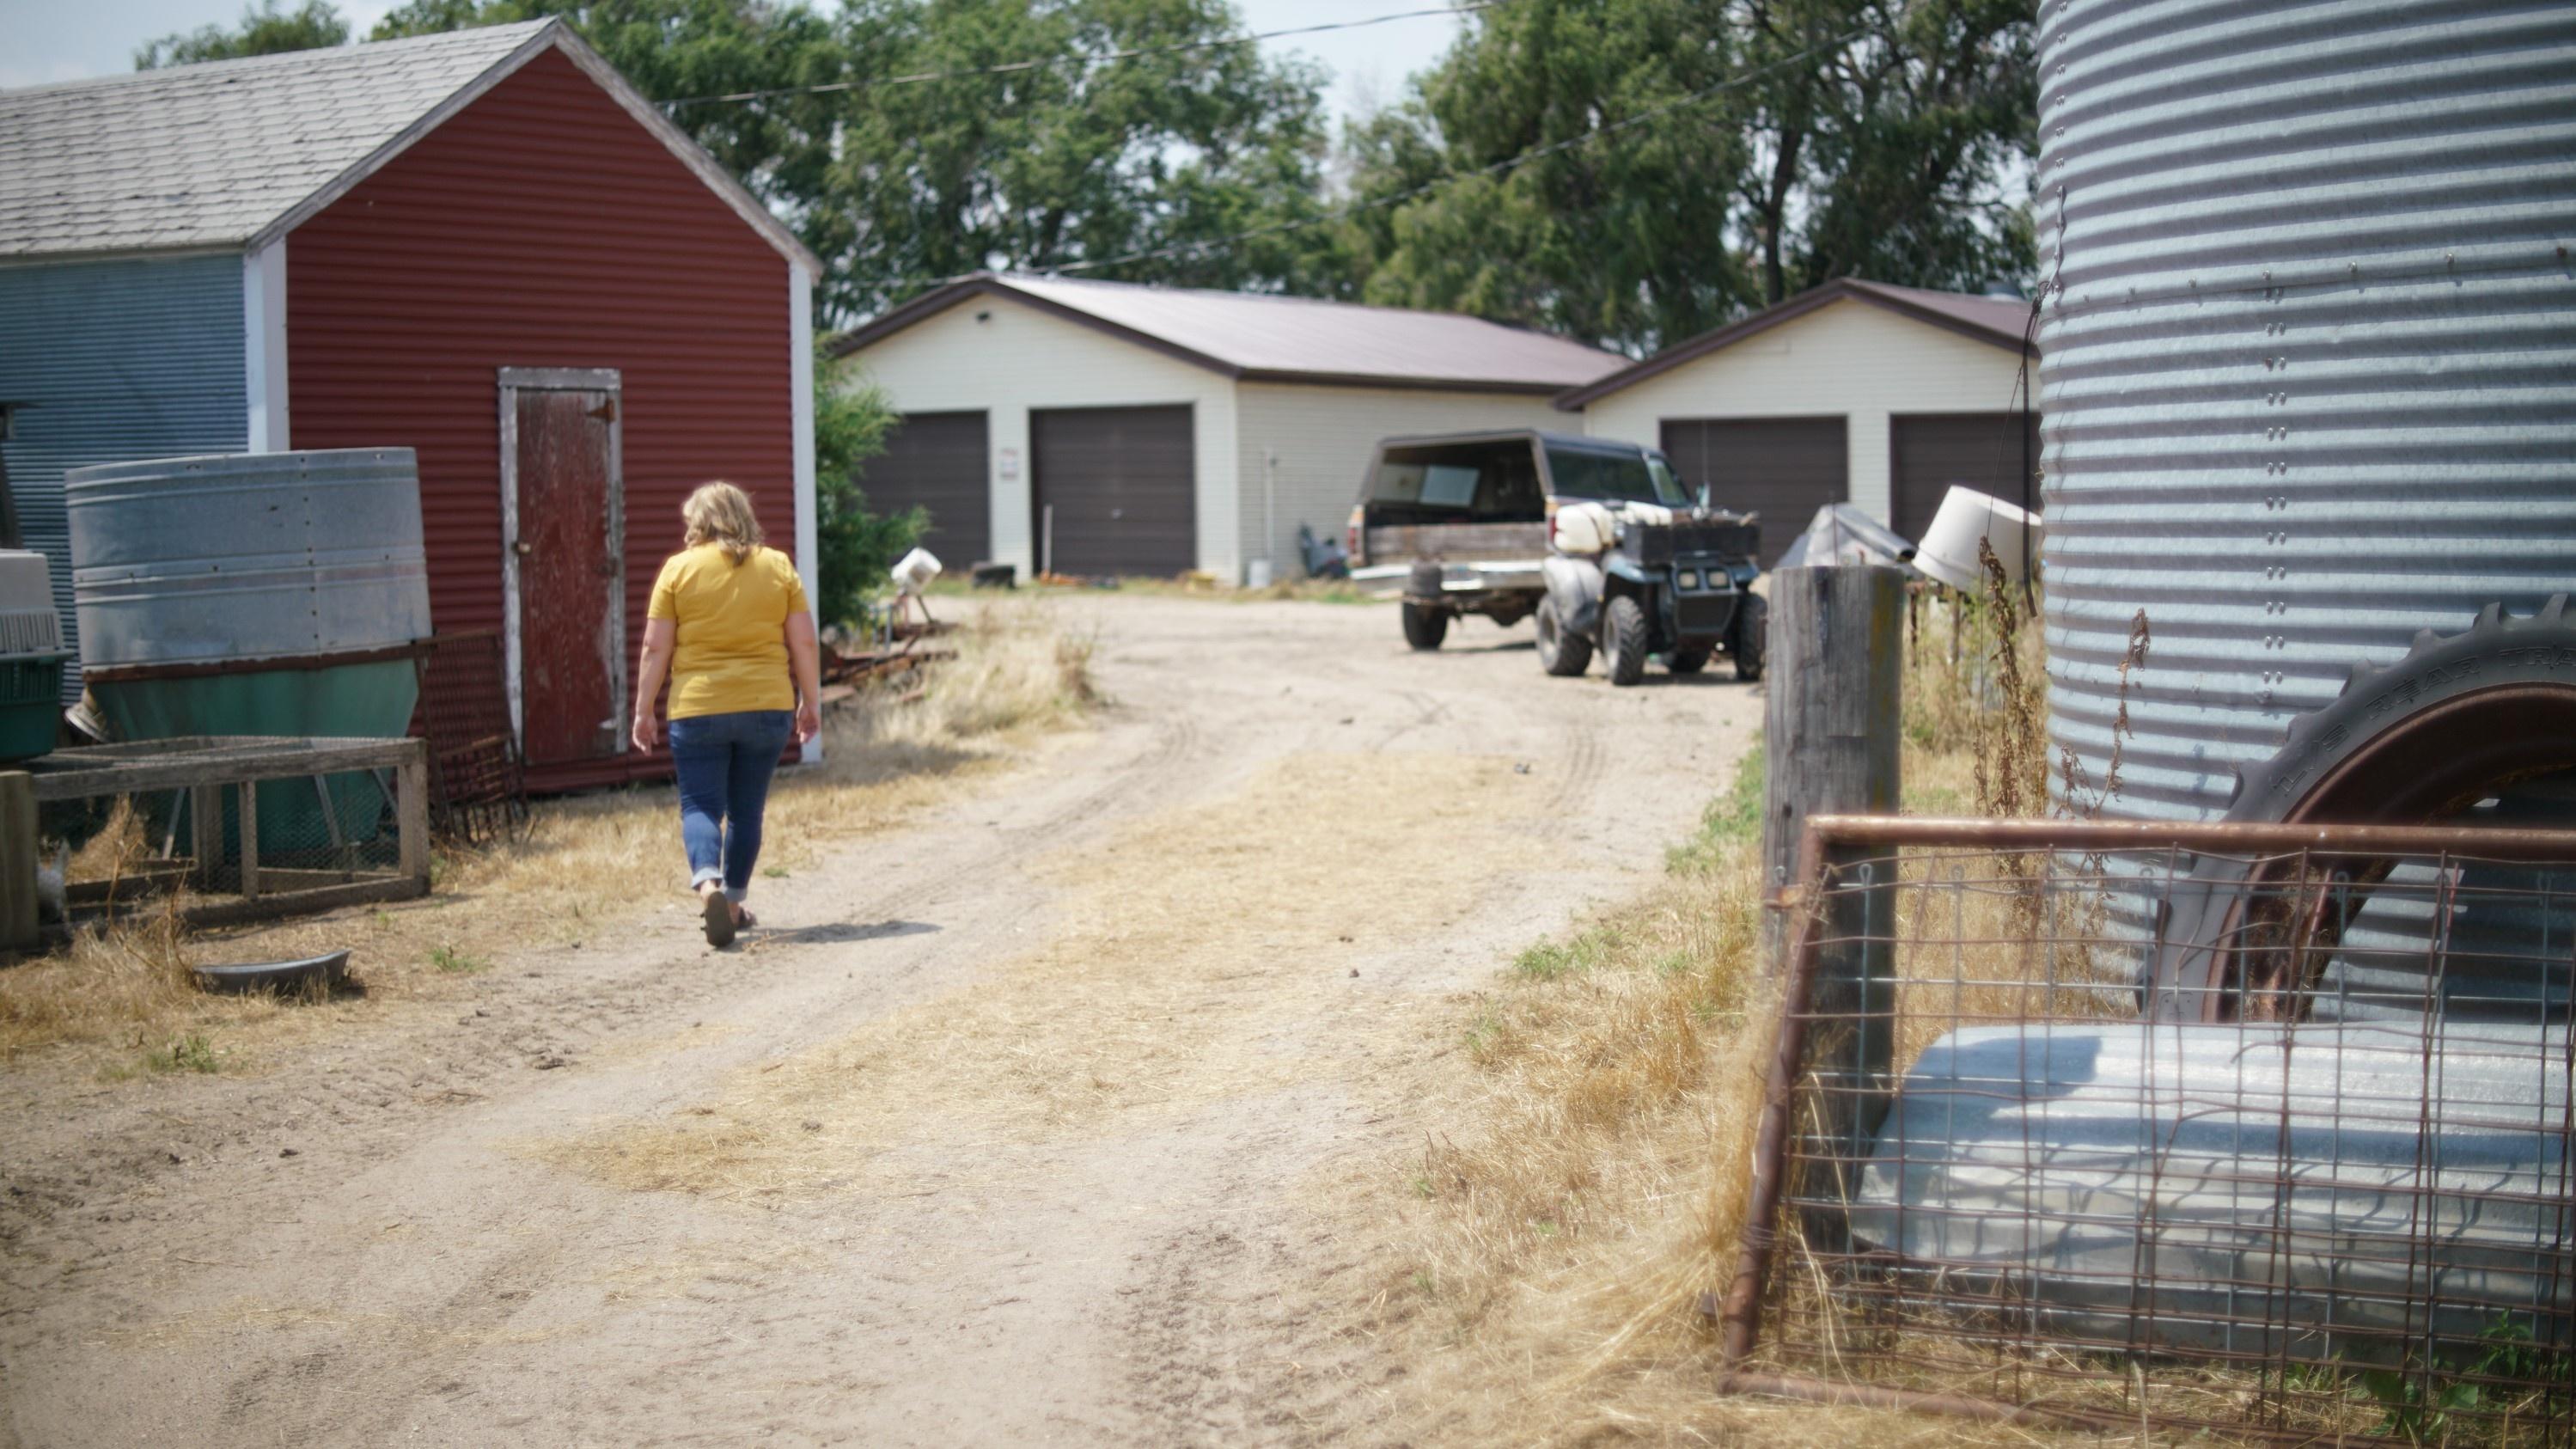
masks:
{"label": "blue corrugated metal side wall under the gray shingle roof", "polygon": [[[64,469],[250,446],[242,255],[0,268],[0,402],[18,405],[8,482],[77,647]],[[80,683],[67,670],[64,691]]]}

